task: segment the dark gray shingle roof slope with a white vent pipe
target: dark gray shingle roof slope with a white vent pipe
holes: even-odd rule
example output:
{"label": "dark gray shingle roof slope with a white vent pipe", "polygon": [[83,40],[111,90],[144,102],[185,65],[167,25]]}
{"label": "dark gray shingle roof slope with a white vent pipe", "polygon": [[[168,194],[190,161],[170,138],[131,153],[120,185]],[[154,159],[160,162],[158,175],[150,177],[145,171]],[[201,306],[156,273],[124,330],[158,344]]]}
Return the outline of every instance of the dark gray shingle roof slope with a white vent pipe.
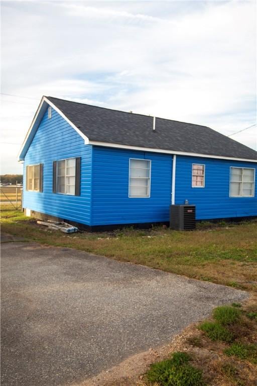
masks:
{"label": "dark gray shingle roof slope with a white vent pipe", "polygon": [[105,109],[47,96],[89,141],[257,159],[257,152],[206,126]]}

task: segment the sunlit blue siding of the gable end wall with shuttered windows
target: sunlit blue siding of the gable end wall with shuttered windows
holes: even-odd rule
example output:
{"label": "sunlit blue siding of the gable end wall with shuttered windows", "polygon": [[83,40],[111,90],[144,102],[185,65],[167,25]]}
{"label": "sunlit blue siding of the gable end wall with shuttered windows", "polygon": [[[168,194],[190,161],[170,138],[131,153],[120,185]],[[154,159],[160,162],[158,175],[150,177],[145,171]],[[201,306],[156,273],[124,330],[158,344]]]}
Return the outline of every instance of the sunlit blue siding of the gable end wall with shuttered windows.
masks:
{"label": "sunlit blue siding of the gable end wall with shuttered windows", "polygon": [[[53,161],[81,157],[80,196],[53,194]],[[90,225],[92,146],[54,110],[48,119],[46,111],[24,161],[26,166],[43,163],[43,193],[24,189],[23,207]]]}

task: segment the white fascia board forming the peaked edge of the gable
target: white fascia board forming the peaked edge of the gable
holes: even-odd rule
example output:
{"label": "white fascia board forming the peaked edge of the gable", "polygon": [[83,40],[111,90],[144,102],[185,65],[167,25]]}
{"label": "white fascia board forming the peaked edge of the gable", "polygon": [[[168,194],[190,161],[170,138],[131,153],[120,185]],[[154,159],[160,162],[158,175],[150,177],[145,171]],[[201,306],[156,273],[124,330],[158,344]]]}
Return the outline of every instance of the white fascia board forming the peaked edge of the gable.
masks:
{"label": "white fascia board forming the peaked edge of the gable", "polygon": [[63,119],[65,119],[66,122],[68,122],[68,124],[74,130],[76,130],[76,132],[83,138],[85,145],[89,143],[87,136],[85,136],[85,134],[83,134],[52,102],[50,102],[46,98],[46,96],[43,96],[39,104],[39,107],[36,111],[36,114],[33,118],[33,121],[30,125],[30,128],[26,134],[25,140],[23,141],[22,147],[18,155],[18,161],[24,160],[24,157],[25,157],[25,154],[23,154],[24,150],[26,150],[27,147],[29,148],[48,106],[51,106]]}

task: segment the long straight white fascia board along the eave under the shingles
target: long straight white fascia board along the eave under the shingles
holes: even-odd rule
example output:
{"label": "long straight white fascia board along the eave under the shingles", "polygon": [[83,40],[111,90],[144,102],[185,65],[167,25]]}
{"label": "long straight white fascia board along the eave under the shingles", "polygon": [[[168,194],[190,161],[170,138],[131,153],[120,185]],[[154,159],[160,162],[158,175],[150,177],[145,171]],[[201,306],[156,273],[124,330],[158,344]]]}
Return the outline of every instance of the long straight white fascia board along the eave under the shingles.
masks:
{"label": "long straight white fascia board along the eave under the shingles", "polygon": [[111,143],[111,142],[100,142],[100,141],[90,141],[89,140],[88,144],[89,145],[94,145],[94,146],[114,147],[114,148],[117,148],[117,149],[149,151],[151,153],[164,153],[164,154],[186,155],[186,156],[191,156],[191,157],[228,159],[228,160],[231,160],[231,161],[257,162],[257,159],[255,160],[255,159],[247,159],[247,158],[225,157],[225,156],[220,156],[220,155],[187,153],[187,152],[184,152],[184,151],[154,149],[154,148],[150,148],[150,147],[141,147],[141,146],[121,145],[121,144]]}

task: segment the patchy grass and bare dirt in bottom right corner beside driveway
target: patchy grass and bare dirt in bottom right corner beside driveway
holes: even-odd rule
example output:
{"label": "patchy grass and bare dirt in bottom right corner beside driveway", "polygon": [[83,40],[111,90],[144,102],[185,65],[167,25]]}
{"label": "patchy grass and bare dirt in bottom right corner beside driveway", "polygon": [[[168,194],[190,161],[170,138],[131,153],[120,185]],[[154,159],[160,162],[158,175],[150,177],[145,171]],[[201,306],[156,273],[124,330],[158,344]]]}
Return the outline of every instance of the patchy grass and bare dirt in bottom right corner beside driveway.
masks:
{"label": "patchy grass and bare dirt in bottom right corner beside driveway", "polygon": [[[153,363],[142,375],[142,381],[134,384],[255,386],[257,321],[248,315],[257,310],[256,296],[243,307],[238,306],[218,307],[214,309],[213,318],[202,323],[226,328],[233,336],[231,342],[222,337],[209,337],[208,332],[203,332],[202,325],[189,327],[173,343],[171,349],[175,348],[175,352],[172,350],[163,360]],[[180,363],[175,360],[177,357]],[[129,383],[122,386],[126,384]]]}

